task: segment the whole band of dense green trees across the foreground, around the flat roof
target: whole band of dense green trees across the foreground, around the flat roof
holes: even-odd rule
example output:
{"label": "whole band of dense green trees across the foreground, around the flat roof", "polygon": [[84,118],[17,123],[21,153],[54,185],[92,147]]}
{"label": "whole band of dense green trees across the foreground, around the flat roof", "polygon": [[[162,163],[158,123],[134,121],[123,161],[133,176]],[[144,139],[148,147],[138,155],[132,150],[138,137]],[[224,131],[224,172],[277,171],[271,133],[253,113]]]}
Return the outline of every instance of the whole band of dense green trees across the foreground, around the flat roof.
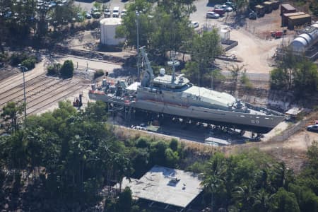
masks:
{"label": "whole band of dense green trees across the foreground, around the flat roof", "polygon": [[[0,166],[16,173],[14,195],[23,185],[20,173],[26,172],[33,176],[29,185],[40,188],[44,199],[92,204],[105,186],[110,189],[108,185],[118,182],[121,187],[123,177],[139,178],[153,165],[163,165],[203,173],[203,207],[317,211],[317,142],[309,148],[305,169],[295,176],[284,163],[259,151],[228,157],[214,153],[194,160],[198,155],[193,158],[193,152],[175,139],[119,141],[106,119],[103,102],[90,103],[80,111],[70,102],[59,102],[59,109],[30,116],[23,128],[1,136]],[[1,171],[0,179],[4,176]],[[4,196],[0,194],[1,200]],[[131,191],[125,189],[119,199],[107,195],[105,210],[138,211],[139,206],[134,204]]]}

